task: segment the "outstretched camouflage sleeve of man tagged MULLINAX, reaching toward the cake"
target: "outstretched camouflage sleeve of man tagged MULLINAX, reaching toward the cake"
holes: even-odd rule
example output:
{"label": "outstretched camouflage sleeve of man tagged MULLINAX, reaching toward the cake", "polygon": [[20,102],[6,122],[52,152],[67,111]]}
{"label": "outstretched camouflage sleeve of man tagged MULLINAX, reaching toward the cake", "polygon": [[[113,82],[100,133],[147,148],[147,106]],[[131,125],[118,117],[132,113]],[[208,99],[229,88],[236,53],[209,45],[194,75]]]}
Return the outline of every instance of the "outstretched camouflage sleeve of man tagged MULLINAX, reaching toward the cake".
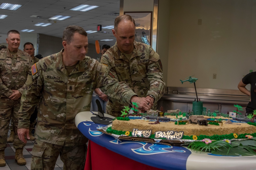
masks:
{"label": "outstretched camouflage sleeve of man tagged MULLINAX, reaching toward the cake", "polygon": [[106,65],[99,63],[97,70],[99,71],[99,77],[96,86],[104,91],[107,96],[129,104],[132,96],[137,96],[125,82],[114,79]]}

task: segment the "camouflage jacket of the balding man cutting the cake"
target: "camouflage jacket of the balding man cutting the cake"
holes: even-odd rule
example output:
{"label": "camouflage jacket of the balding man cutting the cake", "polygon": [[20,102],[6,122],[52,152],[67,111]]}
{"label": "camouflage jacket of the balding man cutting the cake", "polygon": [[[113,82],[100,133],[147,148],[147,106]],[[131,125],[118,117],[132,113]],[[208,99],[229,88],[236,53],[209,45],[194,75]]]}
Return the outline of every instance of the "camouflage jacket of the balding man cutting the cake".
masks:
{"label": "camouflage jacket of the balding man cutting the cake", "polygon": [[[164,94],[165,82],[159,55],[149,45],[134,41],[130,61],[118,49],[117,43],[101,57],[101,63],[108,65],[112,74],[126,82],[139,96],[153,95],[157,102]],[[112,99],[118,107],[118,101]],[[122,107],[122,104],[119,104]]]}

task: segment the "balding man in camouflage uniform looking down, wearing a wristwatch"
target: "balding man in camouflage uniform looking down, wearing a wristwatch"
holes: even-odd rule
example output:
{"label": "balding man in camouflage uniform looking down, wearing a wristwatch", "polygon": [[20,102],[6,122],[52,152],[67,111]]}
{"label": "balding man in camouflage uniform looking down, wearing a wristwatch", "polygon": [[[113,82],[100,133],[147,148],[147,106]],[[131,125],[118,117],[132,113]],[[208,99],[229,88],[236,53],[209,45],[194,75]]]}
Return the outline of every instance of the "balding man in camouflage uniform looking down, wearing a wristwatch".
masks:
{"label": "balding man in camouflage uniform looking down, wearing a wristwatch", "polygon": [[[139,97],[148,99],[148,106],[155,110],[165,87],[159,55],[151,46],[134,41],[135,22],[130,15],[118,16],[112,32],[116,43],[103,54],[101,63],[107,65],[112,74],[120,82],[126,82]],[[117,117],[122,109],[123,103],[110,97],[106,113]]]}

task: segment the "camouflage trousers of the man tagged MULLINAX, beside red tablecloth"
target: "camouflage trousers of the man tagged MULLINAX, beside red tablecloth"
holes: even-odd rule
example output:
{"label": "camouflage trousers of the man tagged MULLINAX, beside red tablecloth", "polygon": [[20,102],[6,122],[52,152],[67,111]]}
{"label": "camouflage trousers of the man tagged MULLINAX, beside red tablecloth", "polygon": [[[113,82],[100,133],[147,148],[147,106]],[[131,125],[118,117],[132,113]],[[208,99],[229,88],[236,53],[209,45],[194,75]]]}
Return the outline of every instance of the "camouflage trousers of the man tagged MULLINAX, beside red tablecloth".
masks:
{"label": "camouflage trousers of the man tagged MULLINAX, beside red tablecloth", "polygon": [[86,151],[86,144],[60,146],[36,139],[31,153],[31,170],[53,170],[60,152],[60,159],[64,163],[63,170],[83,170]]}

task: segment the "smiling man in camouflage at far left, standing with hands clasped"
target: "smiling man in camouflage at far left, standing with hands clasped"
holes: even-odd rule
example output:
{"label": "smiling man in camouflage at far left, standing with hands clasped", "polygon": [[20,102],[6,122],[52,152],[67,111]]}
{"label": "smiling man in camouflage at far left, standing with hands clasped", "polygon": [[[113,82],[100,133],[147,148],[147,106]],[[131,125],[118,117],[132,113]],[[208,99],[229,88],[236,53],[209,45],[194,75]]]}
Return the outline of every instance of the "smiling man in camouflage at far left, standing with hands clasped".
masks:
{"label": "smiling man in camouflage at far left, standing with hands clasped", "polygon": [[15,161],[18,165],[26,165],[23,157],[23,147],[26,145],[17,136],[18,110],[20,97],[25,88],[25,82],[30,69],[30,56],[18,49],[20,33],[10,30],[7,33],[8,48],[0,51],[0,166],[5,166],[4,149],[6,148],[7,134],[11,117],[15,129],[13,147]]}

